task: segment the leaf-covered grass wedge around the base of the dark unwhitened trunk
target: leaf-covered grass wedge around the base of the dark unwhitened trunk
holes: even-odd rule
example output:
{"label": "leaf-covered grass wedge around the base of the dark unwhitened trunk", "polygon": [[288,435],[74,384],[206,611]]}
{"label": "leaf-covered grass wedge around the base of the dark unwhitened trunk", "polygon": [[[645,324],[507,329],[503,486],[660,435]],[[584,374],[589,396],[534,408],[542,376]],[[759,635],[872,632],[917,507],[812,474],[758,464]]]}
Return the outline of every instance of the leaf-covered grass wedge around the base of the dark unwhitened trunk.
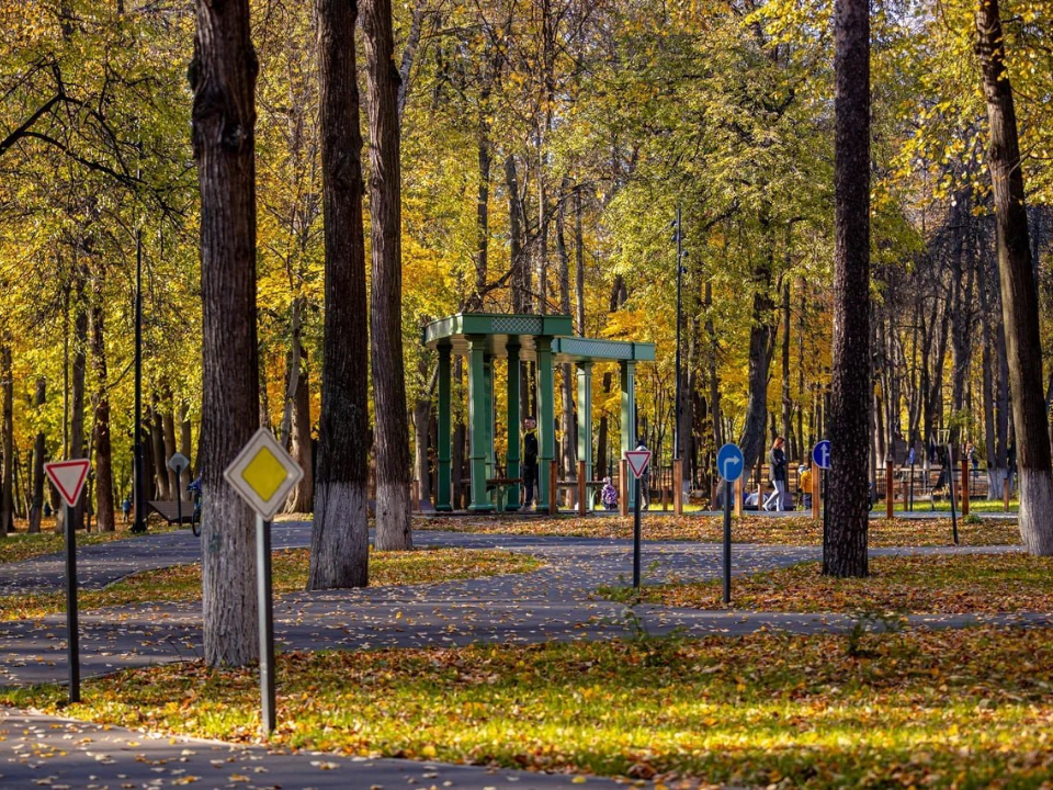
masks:
{"label": "leaf-covered grass wedge around the base of the dark unwhitened trunk", "polygon": [[[872,557],[871,575],[834,579],[802,563],[733,582],[736,609],[790,612],[1053,612],[1053,557],[1022,553]],[[647,587],[643,600],[722,609],[720,582]],[[620,599],[625,588],[601,589]]]}

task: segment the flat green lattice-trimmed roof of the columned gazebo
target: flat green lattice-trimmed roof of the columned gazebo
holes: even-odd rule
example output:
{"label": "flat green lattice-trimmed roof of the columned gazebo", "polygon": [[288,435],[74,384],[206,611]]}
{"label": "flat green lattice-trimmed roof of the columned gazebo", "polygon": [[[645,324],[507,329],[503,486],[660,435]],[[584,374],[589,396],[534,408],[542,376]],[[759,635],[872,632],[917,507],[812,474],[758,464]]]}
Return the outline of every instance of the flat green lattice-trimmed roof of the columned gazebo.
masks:
{"label": "flat green lattice-trimmed roof of the columned gazebo", "polygon": [[468,340],[479,338],[494,357],[508,357],[508,347],[519,345],[519,358],[534,360],[539,337],[552,338],[553,360],[557,363],[655,360],[655,345],[650,342],[574,337],[574,321],[568,315],[457,313],[424,327],[428,348],[450,346],[462,357],[468,353]]}

